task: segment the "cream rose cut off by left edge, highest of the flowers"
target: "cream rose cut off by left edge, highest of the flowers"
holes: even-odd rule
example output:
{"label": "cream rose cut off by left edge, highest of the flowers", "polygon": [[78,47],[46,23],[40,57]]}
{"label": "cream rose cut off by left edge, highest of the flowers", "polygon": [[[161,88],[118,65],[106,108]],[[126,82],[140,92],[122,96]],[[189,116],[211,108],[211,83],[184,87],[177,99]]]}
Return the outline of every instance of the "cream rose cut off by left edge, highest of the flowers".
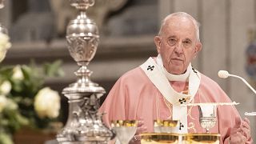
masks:
{"label": "cream rose cut off by left edge, highest of the flowers", "polygon": [[6,57],[6,51],[10,48],[9,37],[0,32],[0,62]]}

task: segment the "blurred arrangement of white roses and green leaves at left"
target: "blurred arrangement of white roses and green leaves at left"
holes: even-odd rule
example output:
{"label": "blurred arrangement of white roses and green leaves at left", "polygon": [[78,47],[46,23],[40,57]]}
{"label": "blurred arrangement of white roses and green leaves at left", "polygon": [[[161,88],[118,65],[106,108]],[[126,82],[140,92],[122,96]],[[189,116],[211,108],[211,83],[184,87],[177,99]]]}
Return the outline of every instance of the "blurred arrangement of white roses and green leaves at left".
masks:
{"label": "blurred arrangement of white roses and green leaves at left", "polygon": [[[0,61],[9,48],[8,36],[0,33]],[[63,75],[61,64],[0,67],[0,143],[12,144],[13,134],[22,126],[43,129],[58,121],[60,96],[44,83],[47,77]]]}

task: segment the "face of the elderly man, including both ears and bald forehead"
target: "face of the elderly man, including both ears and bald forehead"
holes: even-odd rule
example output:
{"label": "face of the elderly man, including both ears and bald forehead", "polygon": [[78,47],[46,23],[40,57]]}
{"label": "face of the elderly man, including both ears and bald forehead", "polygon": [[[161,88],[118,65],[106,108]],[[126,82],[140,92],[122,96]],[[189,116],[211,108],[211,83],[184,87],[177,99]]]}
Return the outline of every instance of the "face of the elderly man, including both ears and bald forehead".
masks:
{"label": "face of the elderly man, including both ears and bald forehead", "polygon": [[169,18],[154,42],[162,56],[163,66],[170,74],[183,74],[202,47],[190,18]]}

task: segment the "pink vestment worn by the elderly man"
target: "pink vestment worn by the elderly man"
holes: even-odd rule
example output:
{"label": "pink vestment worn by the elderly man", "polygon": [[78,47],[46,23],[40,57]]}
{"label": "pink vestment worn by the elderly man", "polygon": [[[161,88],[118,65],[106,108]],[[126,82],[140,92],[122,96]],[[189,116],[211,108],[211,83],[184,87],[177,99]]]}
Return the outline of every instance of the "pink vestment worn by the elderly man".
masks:
{"label": "pink vestment worn by the elderly man", "polygon": [[[180,92],[187,85],[186,82],[170,82],[174,90]],[[201,82],[194,103],[199,102],[231,102],[230,98],[218,86],[216,82],[201,74]],[[200,126],[198,107],[188,107],[189,133],[205,133],[206,130]],[[111,120],[137,119],[144,121],[148,132],[154,131],[153,120],[160,117],[170,117],[170,106],[166,105],[159,90],[154,86],[144,71],[137,67],[124,74],[115,83],[112,90],[103,102],[100,112],[106,113],[103,122],[110,126]],[[238,110],[234,106],[218,106],[218,122],[211,133],[221,134],[221,143],[227,143],[230,137],[230,128],[234,127],[235,118],[239,117]],[[252,139],[250,138],[251,143]]]}

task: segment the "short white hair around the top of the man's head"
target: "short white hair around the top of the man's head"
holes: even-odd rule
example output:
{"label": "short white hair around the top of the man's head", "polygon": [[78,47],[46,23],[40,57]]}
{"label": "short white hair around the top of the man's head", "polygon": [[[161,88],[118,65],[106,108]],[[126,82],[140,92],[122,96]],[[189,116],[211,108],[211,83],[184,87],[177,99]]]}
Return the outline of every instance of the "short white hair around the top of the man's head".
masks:
{"label": "short white hair around the top of the man's head", "polygon": [[162,24],[161,24],[161,27],[160,27],[160,30],[158,32],[158,35],[161,35],[162,34],[162,29],[163,27],[166,25],[166,21],[169,19],[169,18],[172,18],[172,17],[179,17],[179,18],[190,18],[191,21],[194,23],[194,28],[196,30],[196,37],[197,37],[197,40],[198,42],[200,42],[200,37],[199,37],[199,22],[196,21],[190,14],[186,14],[185,12],[177,12],[177,13],[173,13],[173,14],[169,14],[168,16],[166,16],[166,18],[162,21]]}

